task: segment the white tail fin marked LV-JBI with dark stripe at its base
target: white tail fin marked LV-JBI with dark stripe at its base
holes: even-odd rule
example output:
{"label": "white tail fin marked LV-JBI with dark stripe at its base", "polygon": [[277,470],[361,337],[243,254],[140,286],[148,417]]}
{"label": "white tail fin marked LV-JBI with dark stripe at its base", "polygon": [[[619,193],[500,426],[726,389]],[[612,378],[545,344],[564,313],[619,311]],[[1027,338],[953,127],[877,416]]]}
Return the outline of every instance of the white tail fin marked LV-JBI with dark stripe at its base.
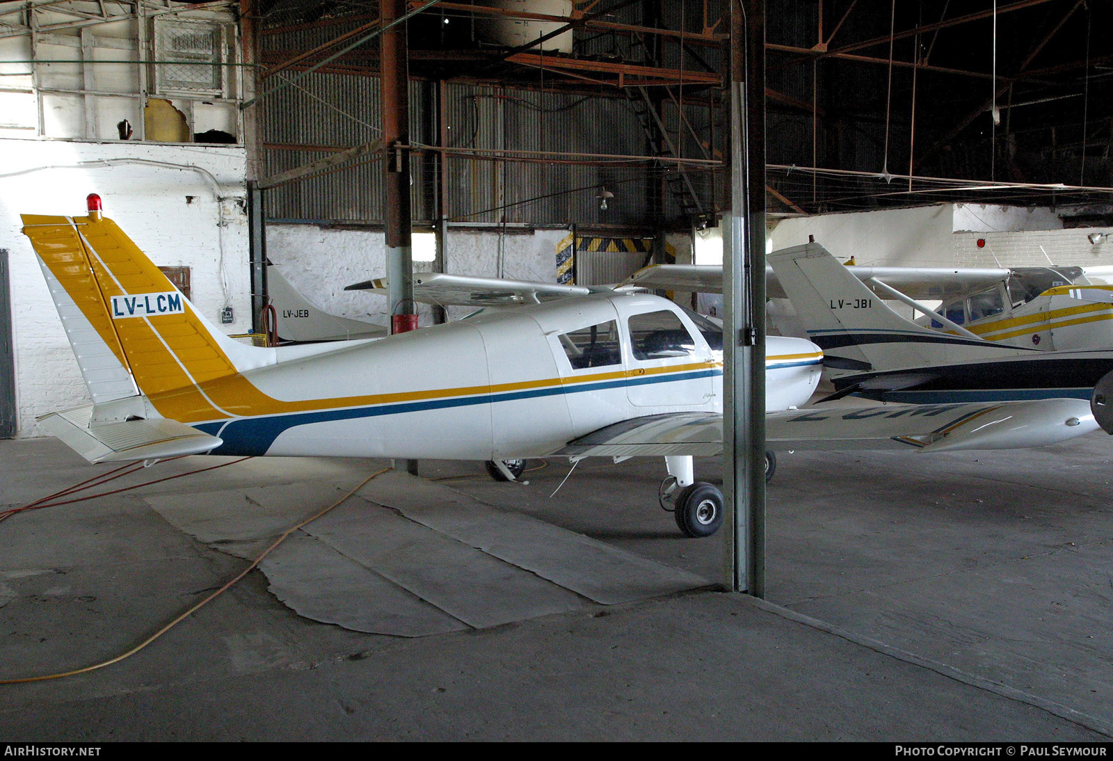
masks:
{"label": "white tail fin marked LV-JBI with dark stripe at its base", "polygon": [[905,319],[819,244],[785,248],[767,258],[808,338],[824,349],[824,363],[834,369],[929,365],[949,344],[984,344]]}

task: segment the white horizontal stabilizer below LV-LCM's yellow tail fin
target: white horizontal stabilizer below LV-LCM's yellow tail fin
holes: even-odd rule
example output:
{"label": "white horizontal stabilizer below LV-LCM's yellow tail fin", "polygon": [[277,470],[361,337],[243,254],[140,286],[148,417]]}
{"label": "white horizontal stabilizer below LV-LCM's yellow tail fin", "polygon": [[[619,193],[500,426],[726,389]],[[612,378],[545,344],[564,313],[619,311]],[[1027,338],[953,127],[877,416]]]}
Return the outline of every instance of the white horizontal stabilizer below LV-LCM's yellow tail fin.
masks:
{"label": "white horizontal stabilizer below LV-LCM's yellow tail fin", "polygon": [[90,463],[165,459],[204,454],[223,439],[166,418],[135,419],[90,425],[92,405],[51,413],[39,425],[62,439]]}

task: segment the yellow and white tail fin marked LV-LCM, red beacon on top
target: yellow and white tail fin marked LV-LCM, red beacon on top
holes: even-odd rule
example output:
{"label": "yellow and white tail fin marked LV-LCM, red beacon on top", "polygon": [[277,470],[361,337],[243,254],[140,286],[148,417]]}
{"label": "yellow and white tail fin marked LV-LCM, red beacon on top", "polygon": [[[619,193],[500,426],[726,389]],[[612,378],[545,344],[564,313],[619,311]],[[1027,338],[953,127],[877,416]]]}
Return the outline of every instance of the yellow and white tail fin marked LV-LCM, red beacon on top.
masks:
{"label": "yellow and white tail fin marked LV-LCM, red beacon on top", "polygon": [[199,388],[275,362],[274,349],[216,329],[92,206],[88,217],[22,219],[95,404]]}

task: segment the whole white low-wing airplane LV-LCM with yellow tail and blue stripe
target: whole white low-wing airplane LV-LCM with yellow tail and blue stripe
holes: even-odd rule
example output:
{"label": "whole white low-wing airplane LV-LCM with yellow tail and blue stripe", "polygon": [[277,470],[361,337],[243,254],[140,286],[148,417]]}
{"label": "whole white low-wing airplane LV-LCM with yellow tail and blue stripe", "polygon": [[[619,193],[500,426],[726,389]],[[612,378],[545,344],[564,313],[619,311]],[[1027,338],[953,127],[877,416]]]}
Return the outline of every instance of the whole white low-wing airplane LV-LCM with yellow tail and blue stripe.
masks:
{"label": "whole white low-wing airplane LV-LCM with yellow tail and blue stripe", "polygon": [[[378,340],[260,348],[219,333],[99,197],[88,216],[23,225],[92,397],[40,423],[90,462],[474,459],[513,477],[506,462],[529,457],[663,456],[683,533],[721,523],[722,495],[695,481],[692,456],[722,451],[722,334],[670,302],[604,289]],[[821,358],[769,338],[769,448],[1008,448],[1097,427],[1080,399],[797,409]]]}

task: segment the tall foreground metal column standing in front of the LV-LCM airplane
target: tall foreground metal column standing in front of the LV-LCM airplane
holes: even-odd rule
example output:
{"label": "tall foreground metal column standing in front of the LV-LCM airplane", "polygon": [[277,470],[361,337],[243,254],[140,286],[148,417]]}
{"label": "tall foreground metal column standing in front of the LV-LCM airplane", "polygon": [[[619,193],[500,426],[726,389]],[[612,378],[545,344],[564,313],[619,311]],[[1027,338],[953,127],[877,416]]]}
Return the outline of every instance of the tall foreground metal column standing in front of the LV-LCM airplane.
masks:
{"label": "tall foreground metal column standing in front of the LV-LCM airplane", "polygon": [[730,4],[730,214],[723,217],[725,582],[765,596],[765,0]]}

